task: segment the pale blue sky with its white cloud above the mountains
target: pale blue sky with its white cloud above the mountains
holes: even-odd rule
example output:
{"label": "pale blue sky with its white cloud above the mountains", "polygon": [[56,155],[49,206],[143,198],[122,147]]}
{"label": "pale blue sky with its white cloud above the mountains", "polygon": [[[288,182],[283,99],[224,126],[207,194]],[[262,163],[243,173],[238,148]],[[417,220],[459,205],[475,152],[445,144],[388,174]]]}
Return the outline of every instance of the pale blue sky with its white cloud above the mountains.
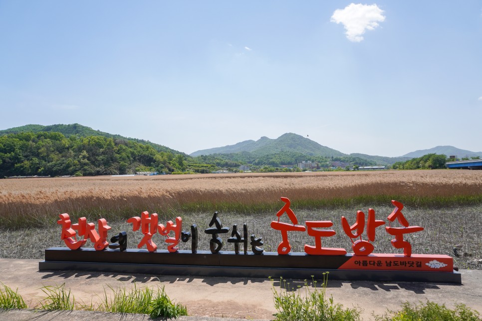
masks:
{"label": "pale blue sky with its white cloud above the mountains", "polygon": [[482,151],[482,1],[0,0],[0,129]]}

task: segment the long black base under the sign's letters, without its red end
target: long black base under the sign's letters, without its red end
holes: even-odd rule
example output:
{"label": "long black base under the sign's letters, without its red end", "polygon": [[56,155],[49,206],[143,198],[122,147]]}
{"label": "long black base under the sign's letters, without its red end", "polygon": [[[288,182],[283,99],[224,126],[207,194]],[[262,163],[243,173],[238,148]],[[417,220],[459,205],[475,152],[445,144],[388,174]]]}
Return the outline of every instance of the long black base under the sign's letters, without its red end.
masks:
{"label": "long black base under the sign's letters, without its red end", "polygon": [[425,271],[381,271],[338,270],[346,261],[345,256],[313,256],[305,253],[277,255],[264,252],[262,255],[235,254],[221,251],[190,251],[169,253],[146,250],[95,251],[68,248],[45,250],[45,261],[38,264],[39,270],[74,270],[128,274],[182,275],[233,278],[321,279],[323,272],[330,272],[330,280],[360,280],[388,282],[434,282],[462,283],[461,274]]}

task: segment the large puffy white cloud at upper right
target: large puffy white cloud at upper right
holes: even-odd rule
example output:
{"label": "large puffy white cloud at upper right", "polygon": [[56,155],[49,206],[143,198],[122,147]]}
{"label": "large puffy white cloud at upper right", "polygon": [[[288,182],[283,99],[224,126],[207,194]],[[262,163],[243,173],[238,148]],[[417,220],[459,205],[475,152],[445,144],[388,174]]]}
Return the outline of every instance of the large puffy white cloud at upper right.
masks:
{"label": "large puffy white cloud at upper right", "polygon": [[384,20],[383,10],[376,4],[350,3],[344,9],[336,9],[331,16],[332,22],[343,23],[346,37],[353,42],[362,41],[367,29],[375,29]]}

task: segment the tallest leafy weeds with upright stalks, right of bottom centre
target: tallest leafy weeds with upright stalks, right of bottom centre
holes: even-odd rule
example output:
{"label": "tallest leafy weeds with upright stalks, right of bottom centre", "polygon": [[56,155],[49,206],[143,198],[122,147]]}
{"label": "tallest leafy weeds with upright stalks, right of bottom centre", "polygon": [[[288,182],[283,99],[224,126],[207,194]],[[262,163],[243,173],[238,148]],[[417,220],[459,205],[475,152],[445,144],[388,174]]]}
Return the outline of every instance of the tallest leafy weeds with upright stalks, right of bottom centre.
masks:
{"label": "tallest leafy weeds with upright stalks, right of bottom centre", "polygon": [[[273,284],[274,307],[277,311],[274,316],[279,321],[334,321],[334,320],[361,320],[360,309],[344,309],[343,305],[335,304],[333,298],[326,298],[326,285],[328,272],[323,273],[321,288],[317,288],[317,281],[311,276],[314,290],[310,290],[305,280],[305,293],[301,294],[300,286],[295,292],[289,292],[289,283],[280,278],[279,292]],[[270,277],[269,279],[273,281]]]}

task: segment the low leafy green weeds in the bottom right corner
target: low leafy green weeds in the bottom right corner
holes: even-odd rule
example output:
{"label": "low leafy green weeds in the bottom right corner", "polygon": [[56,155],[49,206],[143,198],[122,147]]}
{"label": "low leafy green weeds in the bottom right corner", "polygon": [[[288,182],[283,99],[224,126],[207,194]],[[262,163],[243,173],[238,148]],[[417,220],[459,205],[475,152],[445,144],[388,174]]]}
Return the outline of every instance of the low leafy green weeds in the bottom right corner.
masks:
{"label": "low leafy green weeds in the bottom right corner", "polygon": [[480,314],[464,304],[456,305],[454,310],[445,305],[427,301],[427,303],[412,305],[404,303],[402,310],[389,311],[383,316],[374,316],[377,321],[480,321]]}

